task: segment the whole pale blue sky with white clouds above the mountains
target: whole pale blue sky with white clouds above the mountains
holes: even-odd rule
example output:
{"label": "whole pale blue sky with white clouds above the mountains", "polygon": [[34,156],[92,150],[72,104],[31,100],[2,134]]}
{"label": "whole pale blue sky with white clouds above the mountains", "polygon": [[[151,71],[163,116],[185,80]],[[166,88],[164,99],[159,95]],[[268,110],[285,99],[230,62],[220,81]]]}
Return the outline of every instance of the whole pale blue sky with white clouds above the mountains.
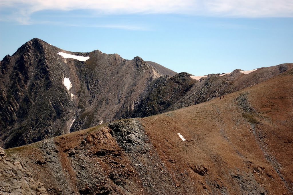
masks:
{"label": "whole pale blue sky with white clouds above the mountains", "polygon": [[194,75],[293,62],[288,0],[0,0],[0,58],[40,38]]}

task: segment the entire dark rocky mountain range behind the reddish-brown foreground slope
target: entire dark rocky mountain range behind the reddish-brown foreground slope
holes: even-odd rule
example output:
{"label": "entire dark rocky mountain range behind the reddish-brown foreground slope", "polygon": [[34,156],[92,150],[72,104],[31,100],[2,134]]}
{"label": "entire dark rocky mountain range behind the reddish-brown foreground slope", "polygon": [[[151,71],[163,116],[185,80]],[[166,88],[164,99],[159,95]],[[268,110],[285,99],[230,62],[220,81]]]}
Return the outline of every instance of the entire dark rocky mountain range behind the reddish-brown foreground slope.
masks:
{"label": "entire dark rocky mountain range behind the reddish-brown foreground slope", "polygon": [[198,104],[292,67],[283,64],[249,74],[236,69],[195,80],[140,57],[69,52],[35,38],[0,62],[0,146],[16,147],[115,119]]}

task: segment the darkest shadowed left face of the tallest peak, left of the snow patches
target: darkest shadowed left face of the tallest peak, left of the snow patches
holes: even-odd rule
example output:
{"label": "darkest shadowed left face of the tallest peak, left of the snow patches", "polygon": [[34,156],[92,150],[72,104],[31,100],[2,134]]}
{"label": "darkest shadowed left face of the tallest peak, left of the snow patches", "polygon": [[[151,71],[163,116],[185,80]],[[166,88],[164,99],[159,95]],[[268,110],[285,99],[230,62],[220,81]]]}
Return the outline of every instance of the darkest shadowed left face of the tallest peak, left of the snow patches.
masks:
{"label": "darkest shadowed left face of the tallest peak, left of the snow patches", "polygon": [[34,39],[1,62],[0,134],[4,147],[54,135],[56,127],[62,126],[62,113],[73,108],[62,85],[61,62],[52,63],[58,54],[49,50],[47,43]]}

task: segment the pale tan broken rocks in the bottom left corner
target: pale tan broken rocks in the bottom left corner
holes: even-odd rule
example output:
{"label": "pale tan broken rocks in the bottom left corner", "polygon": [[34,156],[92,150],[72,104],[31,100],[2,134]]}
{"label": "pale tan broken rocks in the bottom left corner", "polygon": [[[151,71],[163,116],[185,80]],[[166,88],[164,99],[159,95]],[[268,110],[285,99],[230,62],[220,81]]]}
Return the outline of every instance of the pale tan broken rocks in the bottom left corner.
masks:
{"label": "pale tan broken rocks in the bottom left corner", "polygon": [[0,147],[0,194],[47,194],[44,184],[35,182],[22,162],[13,162]]}

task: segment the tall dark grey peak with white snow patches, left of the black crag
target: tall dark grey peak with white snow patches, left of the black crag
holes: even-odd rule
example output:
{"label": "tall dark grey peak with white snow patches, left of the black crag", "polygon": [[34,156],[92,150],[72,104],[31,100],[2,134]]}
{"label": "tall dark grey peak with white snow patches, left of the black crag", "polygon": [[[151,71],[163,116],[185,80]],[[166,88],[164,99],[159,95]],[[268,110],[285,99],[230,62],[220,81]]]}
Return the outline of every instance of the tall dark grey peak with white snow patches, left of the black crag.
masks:
{"label": "tall dark grey peak with white snow patches, left of the black crag", "polygon": [[123,118],[161,76],[141,58],[69,52],[33,39],[0,64],[0,145]]}

